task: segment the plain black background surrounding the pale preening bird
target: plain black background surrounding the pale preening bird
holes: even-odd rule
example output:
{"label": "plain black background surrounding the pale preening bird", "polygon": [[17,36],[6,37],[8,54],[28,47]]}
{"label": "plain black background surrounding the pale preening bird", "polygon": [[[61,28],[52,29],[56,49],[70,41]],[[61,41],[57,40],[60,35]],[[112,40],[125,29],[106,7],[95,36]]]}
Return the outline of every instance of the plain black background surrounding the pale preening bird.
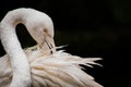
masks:
{"label": "plain black background surrounding the pale preening bird", "polygon": [[[8,11],[23,7],[52,18],[56,45],[69,45],[67,52],[104,59],[99,61],[104,67],[85,71],[96,82],[105,87],[130,86],[131,0],[3,0],[0,20]],[[23,48],[35,45],[23,25],[16,28]],[[3,54],[0,46],[0,55]]]}

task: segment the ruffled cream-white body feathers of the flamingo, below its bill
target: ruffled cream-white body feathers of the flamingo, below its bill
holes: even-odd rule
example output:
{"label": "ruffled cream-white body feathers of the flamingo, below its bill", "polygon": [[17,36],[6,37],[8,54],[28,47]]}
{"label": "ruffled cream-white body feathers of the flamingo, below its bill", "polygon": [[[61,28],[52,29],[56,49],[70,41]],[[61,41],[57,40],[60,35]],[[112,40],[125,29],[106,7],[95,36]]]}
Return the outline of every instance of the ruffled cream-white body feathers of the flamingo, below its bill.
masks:
{"label": "ruffled cream-white body feathers of the flamingo, below its bill", "polygon": [[[32,87],[103,87],[94,77],[83,72],[79,64],[92,66],[100,58],[81,58],[62,50],[46,54],[36,47],[25,50],[31,73]],[[12,70],[8,55],[0,59],[0,86],[9,87]],[[7,69],[7,70],[4,70]]]}

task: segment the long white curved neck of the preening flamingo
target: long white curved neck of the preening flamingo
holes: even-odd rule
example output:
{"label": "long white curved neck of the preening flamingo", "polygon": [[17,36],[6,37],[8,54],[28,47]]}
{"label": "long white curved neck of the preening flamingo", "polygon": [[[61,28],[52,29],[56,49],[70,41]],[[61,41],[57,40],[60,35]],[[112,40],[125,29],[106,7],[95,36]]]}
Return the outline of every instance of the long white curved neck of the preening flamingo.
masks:
{"label": "long white curved neck of the preening flamingo", "polygon": [[9,12],[0,24],[1,42],[10,57],[13,78],[10,87],[31,86],[31,72],[26,54],[22,50],[15,33],[15,26],[21,23],[21,14]]}

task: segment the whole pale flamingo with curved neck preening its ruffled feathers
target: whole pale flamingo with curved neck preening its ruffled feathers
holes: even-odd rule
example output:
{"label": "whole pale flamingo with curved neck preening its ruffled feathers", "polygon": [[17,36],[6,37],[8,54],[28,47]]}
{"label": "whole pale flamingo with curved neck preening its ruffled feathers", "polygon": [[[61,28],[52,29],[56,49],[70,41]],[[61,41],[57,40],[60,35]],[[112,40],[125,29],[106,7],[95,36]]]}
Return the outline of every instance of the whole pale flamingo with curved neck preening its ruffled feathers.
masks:
{"label": "whole pale flamingo with curved neck preening its ruffled feathers", "polygon": [[[36,46],[22,49],[15,33],[20,23]],[[0,39],[7,52],[0,58],[1,87],[103,87],[79,65],[99,65],[95,61],[100,58],[56,51],[53,24],[46,13],[26,8],[10,11],[0,23]]]}

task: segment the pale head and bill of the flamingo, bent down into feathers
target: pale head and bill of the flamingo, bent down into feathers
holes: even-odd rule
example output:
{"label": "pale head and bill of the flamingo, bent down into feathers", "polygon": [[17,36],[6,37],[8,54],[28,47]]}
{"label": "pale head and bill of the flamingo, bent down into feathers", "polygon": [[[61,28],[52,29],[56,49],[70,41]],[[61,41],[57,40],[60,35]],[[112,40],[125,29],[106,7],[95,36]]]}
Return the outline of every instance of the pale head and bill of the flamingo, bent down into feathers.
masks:
{"label": "pale head and bill of the flamingo, bent down into feathers", "polygon": [[51,18],[39,11],[27,9],[28,16],[23,17],[27,30],[36,42],[45,50],[56,51],[53,41],[53,23]]}

